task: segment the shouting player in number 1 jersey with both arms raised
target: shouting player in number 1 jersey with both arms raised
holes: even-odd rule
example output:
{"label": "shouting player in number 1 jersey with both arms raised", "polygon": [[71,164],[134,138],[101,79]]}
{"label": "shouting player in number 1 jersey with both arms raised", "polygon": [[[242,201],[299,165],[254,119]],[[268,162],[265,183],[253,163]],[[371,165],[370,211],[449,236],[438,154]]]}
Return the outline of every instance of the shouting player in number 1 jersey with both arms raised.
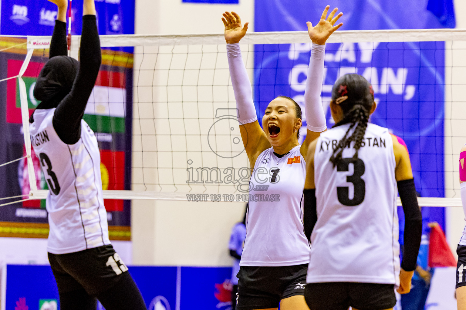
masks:
{"label": "shouting player in number 1 jersey with both arms raised", "polygon": [[[277,309],[279,304],[281,310],[308,309],[303,297],[310,250],[302,224],[304,156],[309,143],[327,128],[320,97],[325,41],[343,25],[334,26],[342,13],[335,16],[334,9],[327,18],[328,11],[327,6],[315,27],[308,22],[313,46],[304,94],[307,133],[302,145],[298,142],[301,108],[291,98],[273,99],[260,127],[239,45],[247,23],[242,26],[240,16],[234,12],[223,14],[240,132],[253,171],[238,273],[237,310]],[[270,195],[274,201],[260,201],[265,195],[255,185],[267,185],[267,196],[274,194]]]}

